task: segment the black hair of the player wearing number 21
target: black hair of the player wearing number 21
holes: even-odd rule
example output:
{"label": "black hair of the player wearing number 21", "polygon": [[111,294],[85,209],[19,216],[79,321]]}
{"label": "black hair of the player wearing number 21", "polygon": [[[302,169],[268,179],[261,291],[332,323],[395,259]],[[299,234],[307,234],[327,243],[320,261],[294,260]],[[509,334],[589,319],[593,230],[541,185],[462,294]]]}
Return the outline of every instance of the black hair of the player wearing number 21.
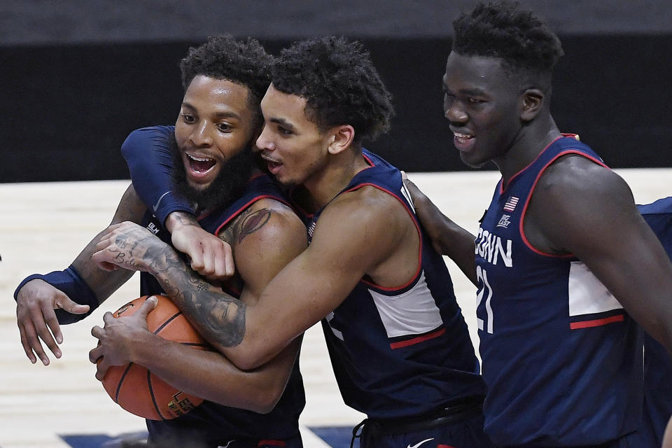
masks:
{"label": "black hair of the player wearing number 21", "polygon": [[498,57],[510,71],[550,77],[564,54],[559,38],[544,20],[518,3],[478,3],[453,22],[452,49],[460,55]]}

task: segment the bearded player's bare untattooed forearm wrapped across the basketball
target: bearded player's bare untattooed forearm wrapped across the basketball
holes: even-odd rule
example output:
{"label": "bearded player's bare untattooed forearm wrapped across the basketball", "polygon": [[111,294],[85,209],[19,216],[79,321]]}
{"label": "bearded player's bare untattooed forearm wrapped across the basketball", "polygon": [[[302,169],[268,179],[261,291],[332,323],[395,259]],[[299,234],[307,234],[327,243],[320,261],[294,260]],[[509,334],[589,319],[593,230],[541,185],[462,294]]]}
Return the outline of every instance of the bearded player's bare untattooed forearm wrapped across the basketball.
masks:
{"label": "bearded player's bare untattooed forearm wrapped across the basketball", "polygon": [[299,344],[297,340],[269,363],[244,371],[216,351],[194,349],[147,333],[146,340],[134,345],[137,351],[132,360],[186,393],[224,406],[267,413],[282,395]]}

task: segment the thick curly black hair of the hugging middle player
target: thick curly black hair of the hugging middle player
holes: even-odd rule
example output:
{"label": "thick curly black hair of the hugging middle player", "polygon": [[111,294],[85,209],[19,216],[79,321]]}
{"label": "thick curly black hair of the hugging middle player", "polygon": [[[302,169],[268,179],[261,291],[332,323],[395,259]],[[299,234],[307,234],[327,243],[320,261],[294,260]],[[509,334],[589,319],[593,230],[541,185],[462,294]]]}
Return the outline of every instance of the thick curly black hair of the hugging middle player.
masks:
{"label": "thick curly black hair of the hugging middle player", "polygon": [[390,129],[391,94],[360,42],[334,36],[295,42],[281,51],[271,78],[280,92],[306,100],[306,116],[321,131],[351,125],[358,146]]}

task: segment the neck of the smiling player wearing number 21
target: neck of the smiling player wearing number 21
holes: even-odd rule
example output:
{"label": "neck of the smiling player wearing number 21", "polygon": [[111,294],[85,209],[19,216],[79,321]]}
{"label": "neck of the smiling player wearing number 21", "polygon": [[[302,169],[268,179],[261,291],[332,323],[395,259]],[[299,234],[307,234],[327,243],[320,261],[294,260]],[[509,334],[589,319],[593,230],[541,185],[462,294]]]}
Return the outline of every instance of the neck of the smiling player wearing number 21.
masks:
{"label": "neck of the smiling player wearing number 21", "polygon": [[503,185],[521,169],[538,157],[555,139],[561,137],[552,116],[535,120],[533,125],[522,127],[510,148],[502,156],[493,160],[502,174]]}

